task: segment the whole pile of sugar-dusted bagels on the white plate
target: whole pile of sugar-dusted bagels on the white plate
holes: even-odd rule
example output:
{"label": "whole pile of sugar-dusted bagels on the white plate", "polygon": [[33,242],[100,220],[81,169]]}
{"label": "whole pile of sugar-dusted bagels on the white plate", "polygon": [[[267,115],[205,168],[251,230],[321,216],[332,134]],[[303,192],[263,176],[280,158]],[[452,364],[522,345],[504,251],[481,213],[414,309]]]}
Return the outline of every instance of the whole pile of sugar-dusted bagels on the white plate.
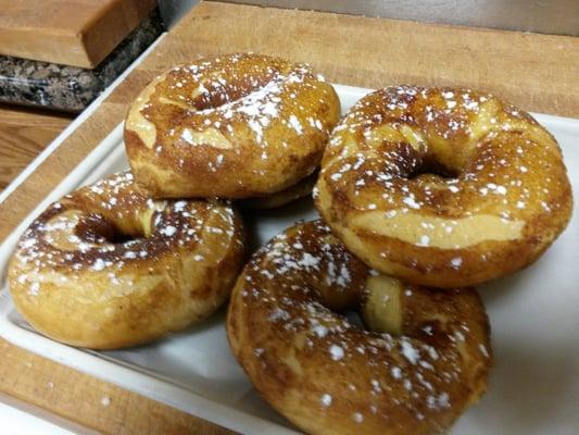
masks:
{"label": "whole pile of sugar-dusted bagels on the white plate", "polygon": [[[130,171],[23,234],[9,266],[17,309],[56,340],[112,349],[229,299],[237,360],[312,434],[450,427],[492,361],[471,286],[537,260],[572,209],[553,136],[494,96],[391,86],[340,119],[309,65],[259,54],[155,78],[129,108],[125,146]],[[312,191],[322,219],[248,252],[240,209]]]}

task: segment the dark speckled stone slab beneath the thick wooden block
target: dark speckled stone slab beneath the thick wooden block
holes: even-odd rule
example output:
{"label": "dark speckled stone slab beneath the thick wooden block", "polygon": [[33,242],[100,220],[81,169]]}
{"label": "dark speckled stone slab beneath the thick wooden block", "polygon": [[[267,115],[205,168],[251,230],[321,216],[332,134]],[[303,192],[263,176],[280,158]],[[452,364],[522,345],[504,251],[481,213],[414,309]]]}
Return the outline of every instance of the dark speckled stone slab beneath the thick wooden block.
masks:
{"label": "dark speckled stone slab beneath the thick wooden block", "polygon": [[79,112],[163,30],[154,11],[95,70],[0,55],[0,102]]}

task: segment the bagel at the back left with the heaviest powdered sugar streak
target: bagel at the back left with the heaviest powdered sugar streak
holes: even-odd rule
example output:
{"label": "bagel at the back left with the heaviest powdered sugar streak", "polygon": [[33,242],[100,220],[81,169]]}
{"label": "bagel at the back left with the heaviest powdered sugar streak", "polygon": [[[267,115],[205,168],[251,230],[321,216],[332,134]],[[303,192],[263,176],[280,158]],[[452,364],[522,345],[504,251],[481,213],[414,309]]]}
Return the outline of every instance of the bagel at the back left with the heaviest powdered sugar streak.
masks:
{"label": "bagel at the back left with the heaviest powdered sugar streak", "polygon": [[339,116],[336,91],[307,65],[227,54],[149,84],[128,111],[125,146],[154,197],[256,197],[312,174]]}

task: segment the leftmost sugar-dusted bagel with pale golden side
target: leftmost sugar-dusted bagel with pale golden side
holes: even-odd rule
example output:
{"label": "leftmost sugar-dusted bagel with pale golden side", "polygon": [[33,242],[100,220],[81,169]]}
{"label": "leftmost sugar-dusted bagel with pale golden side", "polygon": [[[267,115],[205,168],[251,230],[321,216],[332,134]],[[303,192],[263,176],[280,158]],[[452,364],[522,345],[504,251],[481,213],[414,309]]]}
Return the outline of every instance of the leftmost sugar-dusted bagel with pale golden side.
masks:
{"label": "leftmost sugar-dusted bagel with pale golden side", "polygon": [[153,201],[129,172],[52,203],[9,264],[18,311],[42,334],[113,349],[186,328],[228,298],[243,254],[228,204]]}

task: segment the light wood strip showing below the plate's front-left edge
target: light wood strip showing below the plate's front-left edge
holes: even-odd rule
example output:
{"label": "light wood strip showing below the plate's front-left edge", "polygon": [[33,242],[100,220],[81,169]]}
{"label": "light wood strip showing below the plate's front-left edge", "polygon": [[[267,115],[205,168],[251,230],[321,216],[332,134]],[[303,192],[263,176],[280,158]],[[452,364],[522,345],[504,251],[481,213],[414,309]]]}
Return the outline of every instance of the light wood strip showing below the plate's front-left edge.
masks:
{"label": "light wood strip showing below the plate's front-left edge", "polygon": [[[230,433],[3,339],[0,339],[0,353],[1,393],[79,426],[104,434]],[[13,376],[15,369],[20,370],[18,376]]]}

